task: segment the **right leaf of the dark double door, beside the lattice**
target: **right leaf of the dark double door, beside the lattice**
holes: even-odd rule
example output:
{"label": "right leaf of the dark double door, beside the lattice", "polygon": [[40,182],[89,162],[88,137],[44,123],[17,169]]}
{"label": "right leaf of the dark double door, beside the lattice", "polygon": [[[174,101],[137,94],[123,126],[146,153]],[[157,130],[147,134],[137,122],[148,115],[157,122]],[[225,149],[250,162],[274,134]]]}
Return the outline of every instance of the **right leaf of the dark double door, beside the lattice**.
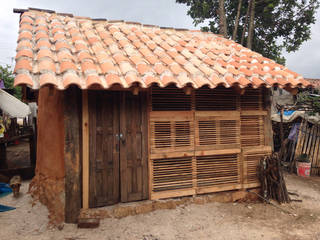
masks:
{"label": "right leaf of the dark double door, beside the lattice", "polygon": [[122,93],[120,132],[121,202],[148,198],[147,95]]}

